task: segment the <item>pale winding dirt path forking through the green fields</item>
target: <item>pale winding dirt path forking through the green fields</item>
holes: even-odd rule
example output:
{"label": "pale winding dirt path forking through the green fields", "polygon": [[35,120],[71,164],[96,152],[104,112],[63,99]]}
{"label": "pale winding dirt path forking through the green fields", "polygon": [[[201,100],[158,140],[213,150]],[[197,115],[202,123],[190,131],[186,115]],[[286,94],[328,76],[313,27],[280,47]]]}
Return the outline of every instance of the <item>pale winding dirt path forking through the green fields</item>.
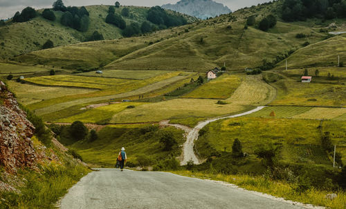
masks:
{"label": "pale winding dirt path forking through the green fields", "polygon": [[176,128],[180,128],[182,130],[185,130],[186,132],[186,141],[183,144],[183,153],[182,153],[182,160],[181,160],[181,166],[185,166],[188,161],[192,160],[194,164],[200,164],[201,161],[197,158],[197,156],[194,154],[194,141],[198,139],[199,137],[199,130],[201,130],[204,126],[207,126],[209,123],[218,121],[221,119],[230,119],[230,118],[235,118],[235,117],[242,117],[244,115],[249,115],[253,112],[257,112],[265,108],[265,106],[258,106],[257,108],[250,110],[248,112],[243,112],[237,115],[229,115],[229,116],[224,116],[224,117],[216,117],[213,119],[208,119],[206,121],[201,121],[195,126],[194,128],[190,128],[188,126],[183,126],[181,124],[171,124],[169,121],[161,121],[160,125],[161,126],[174,126]]}

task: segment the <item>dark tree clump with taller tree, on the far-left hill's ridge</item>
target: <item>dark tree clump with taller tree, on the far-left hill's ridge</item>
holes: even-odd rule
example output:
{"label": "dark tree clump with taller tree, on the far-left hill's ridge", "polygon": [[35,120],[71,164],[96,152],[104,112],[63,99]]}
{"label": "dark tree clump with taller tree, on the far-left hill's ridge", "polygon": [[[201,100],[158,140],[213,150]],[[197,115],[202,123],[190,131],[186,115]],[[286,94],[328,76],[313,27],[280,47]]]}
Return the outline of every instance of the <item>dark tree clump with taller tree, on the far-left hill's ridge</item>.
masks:
{"label": "dark tree clump with taller tree, on the far-left hill's ridge", "polygon": [[66,8],[62,0],[57,0],[53,3],[53,10],[64,12],[64,14],[62,14],[62,19],[60,19],[63,26],[81,32],[85,32],[89,29],[89,12],[84,6],[81,8],[75,6]]}

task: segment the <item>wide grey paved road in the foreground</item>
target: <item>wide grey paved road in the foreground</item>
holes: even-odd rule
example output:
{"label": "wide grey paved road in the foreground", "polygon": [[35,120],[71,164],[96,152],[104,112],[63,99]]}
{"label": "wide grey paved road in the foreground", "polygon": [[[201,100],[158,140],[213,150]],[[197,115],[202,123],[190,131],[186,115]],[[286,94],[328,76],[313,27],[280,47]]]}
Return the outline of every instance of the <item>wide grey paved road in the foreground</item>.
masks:
{"label": "wide grey paved road in the foreground", "polygon": [[165,172],[100,169],[82,178],[62,199],[77,208],[302,208],[221,183]]}

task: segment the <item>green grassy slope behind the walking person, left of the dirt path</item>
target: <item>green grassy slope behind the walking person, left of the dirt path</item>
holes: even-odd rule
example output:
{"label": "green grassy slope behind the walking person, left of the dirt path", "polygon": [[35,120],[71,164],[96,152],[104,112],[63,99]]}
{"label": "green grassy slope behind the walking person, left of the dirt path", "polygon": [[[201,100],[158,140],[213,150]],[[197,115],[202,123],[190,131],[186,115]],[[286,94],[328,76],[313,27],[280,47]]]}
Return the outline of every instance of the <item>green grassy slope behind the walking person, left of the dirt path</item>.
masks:
{"label": "green grassy slope behind the walking person, left of the dirt path", "polygon": [[[133,165],[138,165],[138,161],[144,159],[143,155],[145,159],[148,159],[147,163],[150,165],[167,159],[167,155],[178,157],[181,154],[178,146],[172,151],[164,151],[158,141],[160,130],[150,130],[148,126],[152,125],[116,126],[116,128],[110,126],[98,132],[98,140],[91,143],[74,143],[69,148],[78,150],[85,161],[108,168],[115,165],[116,157],[122,147],[126,148],[127,161]],[[165,128],[165,130],[172,132],[179,145],[184,142],[183,130],[172,127]]]}

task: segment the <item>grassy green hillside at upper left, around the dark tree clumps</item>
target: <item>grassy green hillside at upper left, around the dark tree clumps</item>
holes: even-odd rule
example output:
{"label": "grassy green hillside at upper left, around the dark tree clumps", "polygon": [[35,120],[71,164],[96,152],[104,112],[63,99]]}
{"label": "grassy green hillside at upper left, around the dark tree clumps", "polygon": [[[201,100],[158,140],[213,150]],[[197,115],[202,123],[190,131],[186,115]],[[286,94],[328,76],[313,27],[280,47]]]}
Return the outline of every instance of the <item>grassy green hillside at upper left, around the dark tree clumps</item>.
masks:
{"label": "grassy green hillside at upper left, around the dark tree clumps", "polygon": [[[123,6],[115,8],[120,14]],[[129,25],[130,23],[141,24],[147,19],[149,8],[129,6],[129,17],[122,17]],[[95,30],[100,32],[104,39],[118,39],[122,37],[122,30],[105,22],[109,6],[86,6],[90,16],[89,29],[86,32],[79,32],[73,28],[68,28],[60,23],[63,12],[54,11],[57,17],[55,21],[49,21],[42,17],[39,10],[38,17],[24,23],[7,23],[0,27],[0,59],[10,59],[19,54],[26,54],[35,50],[41,50],[43,44],[50,39],[54,46],[67,46],[73,43],[80,43],[89,39]],[[183,15],[188,22],[196,21],[196,18]]]}

